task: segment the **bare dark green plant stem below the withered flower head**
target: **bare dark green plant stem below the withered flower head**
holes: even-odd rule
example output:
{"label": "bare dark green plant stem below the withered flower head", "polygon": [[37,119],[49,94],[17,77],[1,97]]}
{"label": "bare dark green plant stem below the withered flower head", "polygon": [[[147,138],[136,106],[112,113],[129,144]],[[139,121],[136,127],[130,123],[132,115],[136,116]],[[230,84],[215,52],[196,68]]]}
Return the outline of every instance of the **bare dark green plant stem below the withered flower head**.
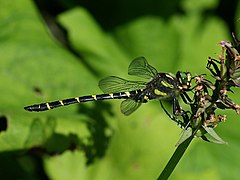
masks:
{"label": "bare dark green plant stem below the withered flower head", "polygon": [[168,177],[172,174],[173,170],[175,169],[178,162],[180,161],[181,157],[183,156],[184,152],[187,150],[193,138],[194,138],[194,135],[190,136],[177,147],[171,159],[168,161],[166,167],[163,169],[162,173],[158,177],[158,180],[168,179]]}

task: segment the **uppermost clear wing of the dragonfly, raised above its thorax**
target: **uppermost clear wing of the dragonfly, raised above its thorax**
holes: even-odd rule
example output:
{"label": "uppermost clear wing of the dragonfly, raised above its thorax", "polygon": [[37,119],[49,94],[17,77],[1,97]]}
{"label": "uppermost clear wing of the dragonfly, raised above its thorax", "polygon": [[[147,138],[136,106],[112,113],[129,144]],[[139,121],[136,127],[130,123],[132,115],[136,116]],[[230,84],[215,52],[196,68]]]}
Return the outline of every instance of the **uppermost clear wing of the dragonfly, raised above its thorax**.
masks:
{"label": "uppermost clear wing of the dragonfly, raised above its thorax", "polygon": [[146,79],[151,79],[157,74],[157,70],[148,64],[144,57],[134,59],[128,67],[128,74]]}

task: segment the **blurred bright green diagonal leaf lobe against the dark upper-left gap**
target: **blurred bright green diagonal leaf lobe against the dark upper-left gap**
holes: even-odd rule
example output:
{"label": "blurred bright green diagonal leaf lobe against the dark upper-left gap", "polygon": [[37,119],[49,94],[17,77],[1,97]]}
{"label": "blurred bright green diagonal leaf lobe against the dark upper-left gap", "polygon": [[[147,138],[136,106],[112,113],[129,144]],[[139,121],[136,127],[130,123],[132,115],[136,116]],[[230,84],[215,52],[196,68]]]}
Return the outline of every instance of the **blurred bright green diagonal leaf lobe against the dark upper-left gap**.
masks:
{"label": "blurred bright green diagonal leaf lobe against the dark upper-left gap", "polygon": [[[114,39],[99,27],[86,9],[75,8],[61,14],[58,19],[68,30],[71,45],[87,60],[86,63],[91,69],[98,74],[126,72],[129,57],[119,49]],[[125,71],[119,67],[125,67]]]}

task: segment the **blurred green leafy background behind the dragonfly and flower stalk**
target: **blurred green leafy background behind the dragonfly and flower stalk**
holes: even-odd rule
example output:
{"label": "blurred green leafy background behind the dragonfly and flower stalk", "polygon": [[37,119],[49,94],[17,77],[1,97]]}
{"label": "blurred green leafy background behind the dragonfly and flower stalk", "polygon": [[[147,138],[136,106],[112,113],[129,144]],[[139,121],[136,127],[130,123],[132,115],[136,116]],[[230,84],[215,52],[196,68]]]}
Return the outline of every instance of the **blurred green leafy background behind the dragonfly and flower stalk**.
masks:
{"label": "blurred green leafy background behind the dragonfly and flower stalk", "polygon": [[[0,0],[1,179],[156,179],[181,135],[157,101],[129,117],[118,100],[23,107],[101,93],[103,77],[132,78],[139,56],[162,72],[208,74],[218,42],[240,37],[239,9],[237,0]],[[216,131],[228,144],[195,139],[170,179],[240,177],[240,117],[227,117]]]}

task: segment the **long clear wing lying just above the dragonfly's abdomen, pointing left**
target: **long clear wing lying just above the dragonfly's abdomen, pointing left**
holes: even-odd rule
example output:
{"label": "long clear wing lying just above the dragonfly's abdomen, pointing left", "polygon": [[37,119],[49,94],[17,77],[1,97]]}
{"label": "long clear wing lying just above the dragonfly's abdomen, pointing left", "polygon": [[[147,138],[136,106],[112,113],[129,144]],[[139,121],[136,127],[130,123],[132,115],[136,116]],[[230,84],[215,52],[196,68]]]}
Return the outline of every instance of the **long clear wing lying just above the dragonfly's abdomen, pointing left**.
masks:
{"label": "long clear wing lying just above the dragonfly's abdomen, pointing left", "polygon": [[117,76],[109,76],[100,80],[98,86],[104,93],[119,93],[144,89],[146,84],[144,81],[128,81]]}

